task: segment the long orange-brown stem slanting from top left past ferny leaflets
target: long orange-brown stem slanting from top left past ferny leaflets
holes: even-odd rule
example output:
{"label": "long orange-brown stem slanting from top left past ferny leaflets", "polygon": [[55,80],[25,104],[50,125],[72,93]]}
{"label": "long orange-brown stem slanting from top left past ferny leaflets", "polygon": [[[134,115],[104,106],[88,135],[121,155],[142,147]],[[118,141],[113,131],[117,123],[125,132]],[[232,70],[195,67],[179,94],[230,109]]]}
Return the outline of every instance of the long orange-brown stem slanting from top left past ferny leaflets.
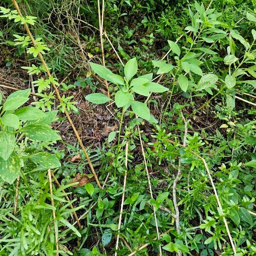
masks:
{"label": "long orange-brown stem slanting from top left past ferny leaflets", "polygon": [[[22,13],[20,12],[20,8],[19,8],[19,6],[18,6],[16,0],[12,0],[12,3],[14,4],[15,9],[17,10],[17,12],[18,12],[18,14],[20,15],[20,17],[22,17]],[[26,32],[28,33],[29,38],[30,38],[30,40],[32,41],[33,45],[34,45],[35,47],[37,47],[37,44],[36,44],[36,42],[35,42],[35,39],[34,39],[34,37],[32,36],[32,34],[31,34],[30,30],[29,30],[29,26],[27,25],[27,23],[24,23],[24,28],[26,29]],[[43,66],[44,66],[44,68],[45,68],[45,70],[46,70],[46,72],[47,72],[47,76],[48,76],[48,77],[52,77],[52,75],[51,75],[51,73],[50,73],[50,71],[49,71],[49,68],[47,67],[46,62],[44,61],[44,57],[43,57],[43,55],[41,54],[41,52],[38,53],[38,56],[39,56],[39,58],[40,58],[40,60],[41,60],[41,62],[42,62],[42,64],[43,64]],[[59,91],[58,91],[58,88],[56,87],[55,84],[53,84],[53,83],[51,83],[51,84],[52,84],[52,87],[53,87],[54,90],[55,90],[55,93],[56,93],[56,95],[57,95],[57,98],[58,98],[59,102],[62,102],[62,99],[61,99],[60,93],[59,93]],[[88,161],[88,163],[89,163],[90,169],[91,169],[91,171],[92,171],[92,173],[93,173],[93,176],[94,176],[94,178],[95,178],[95,180],[96,180],[96,183],[97,183],[97,185],[99,186],[99,189],[102,189],[102,186],[101,186],[100,183],[99,183],[98,176],[96,175],[96,172],[94,171],[93,164],[92,164],[92,162],[91,162],[91,160],[90,160],[90,157],[89,157],[89,155],[87,154],[87,151],[86,151],[86,149],[85,149],[85,147],[84,147],[84,145],[83,145],[83,143],[82,143],[82,140],[81,140],[81,138],[80,138],[80,136],[79,136],[79,134],[78,134],[78,132],[77,132],[77,130],[76,130],[75,125],[73,124],[72,119],[70,118],[69,113],[67,112],[67,108],[65,108],[64,113],[65,113],[65,115],[67,116],[67,119],[68,119],[68,121],[70,122],[70,125],[71,125],[71,127],[73,128],[73,131],[74,131],[74,133],[75,133],[75,135],[76,135],[76,138],[77,138],[77,140],[78,140],[78,142],[79,142],[79,144],[80,144],[80,146],[81,146],[81,148],[82,148],[82,150],[83,150],[83,152],[84,152],[84,154],[85,154],[85,157],[86,157],[86,159],[87,159],[87,161]]]}

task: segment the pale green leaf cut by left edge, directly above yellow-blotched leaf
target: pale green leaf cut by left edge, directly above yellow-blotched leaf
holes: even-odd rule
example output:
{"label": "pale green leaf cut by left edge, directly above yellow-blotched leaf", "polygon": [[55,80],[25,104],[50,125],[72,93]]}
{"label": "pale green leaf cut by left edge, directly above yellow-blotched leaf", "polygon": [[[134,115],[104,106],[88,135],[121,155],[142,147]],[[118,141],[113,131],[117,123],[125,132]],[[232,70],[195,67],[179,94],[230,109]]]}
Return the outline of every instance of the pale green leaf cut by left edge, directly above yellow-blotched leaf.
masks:
{"label": "pale green leaf cut by left edge, directly above yellow-blotched leaf", "polygon": [[7,160],[16,144],[15,136],[6,131],[0,131],[0,157]]}

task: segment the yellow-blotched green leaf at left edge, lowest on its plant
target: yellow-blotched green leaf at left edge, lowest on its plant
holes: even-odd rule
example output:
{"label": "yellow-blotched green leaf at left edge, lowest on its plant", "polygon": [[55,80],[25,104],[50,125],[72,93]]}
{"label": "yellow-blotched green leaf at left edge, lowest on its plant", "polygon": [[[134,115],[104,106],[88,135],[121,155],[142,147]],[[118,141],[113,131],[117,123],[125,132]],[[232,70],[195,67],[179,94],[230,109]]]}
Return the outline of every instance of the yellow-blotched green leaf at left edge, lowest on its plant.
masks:
{"label": "yellow-blotched green leaf at left edge, lowest on its plant", "polygon": [[7,160],[0,157],[0,177],[12,184],[20,171],[20,159],[14,152]]}

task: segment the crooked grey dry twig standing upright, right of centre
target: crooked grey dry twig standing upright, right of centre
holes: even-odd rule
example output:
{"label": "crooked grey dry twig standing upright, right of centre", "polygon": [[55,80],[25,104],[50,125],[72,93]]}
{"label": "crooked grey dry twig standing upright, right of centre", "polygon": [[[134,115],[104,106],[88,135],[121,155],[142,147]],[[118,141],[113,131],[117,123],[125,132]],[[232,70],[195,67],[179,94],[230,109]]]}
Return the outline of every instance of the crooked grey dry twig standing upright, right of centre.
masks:
{"label": "crooked grey dry twig standing upright, right of centre", "polygon": [[[184,137],[183,137],[183,146],[186,147],[186,137],[187,137],[187,134],[188,134],[188,123],[189,123],[189,121],[188,122],[186,121],[186,119],[184,118],[183,113],[181,111],[180,111],[180,114],[181,114],[182,120],[183,120],[184,125],[185,125],[185,132],[184,132]],[[173,206],[174,206],[174,209],[175,209],[175,225],[176,225],[176,231],[177,231],[178,234],[180,234],[180,211],[179,211],[179,207],[178,207],[178,204],[177,204],[176,187],[177,187],[177,183],[179,182],[180,175],[181,175],[181,157],[179,158],[178,172],[177,172],[177,175],[175,177],[175,180],[173,181],[173,186],[172,186]],[[177,254],[179,256],[181,256],[182,252],[179,251]]]}

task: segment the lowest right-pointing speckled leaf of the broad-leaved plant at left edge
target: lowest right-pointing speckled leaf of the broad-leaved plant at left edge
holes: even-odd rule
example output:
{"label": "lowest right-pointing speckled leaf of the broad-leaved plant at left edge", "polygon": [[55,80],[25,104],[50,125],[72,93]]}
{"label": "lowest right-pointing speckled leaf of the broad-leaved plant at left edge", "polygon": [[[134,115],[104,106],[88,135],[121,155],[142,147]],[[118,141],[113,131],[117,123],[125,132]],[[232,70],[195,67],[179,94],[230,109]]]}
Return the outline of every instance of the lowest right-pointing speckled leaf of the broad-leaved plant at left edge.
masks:
{"label": "lowest right-pointing speckled leaf of the broad-leaved plant at left edge", "polygon": [[61,163],[55,154],[51,154],[49,152],[39,152],[27,157],[34,163],[38,163],[40,165],[40,170],[55,169],[61,166]]}

